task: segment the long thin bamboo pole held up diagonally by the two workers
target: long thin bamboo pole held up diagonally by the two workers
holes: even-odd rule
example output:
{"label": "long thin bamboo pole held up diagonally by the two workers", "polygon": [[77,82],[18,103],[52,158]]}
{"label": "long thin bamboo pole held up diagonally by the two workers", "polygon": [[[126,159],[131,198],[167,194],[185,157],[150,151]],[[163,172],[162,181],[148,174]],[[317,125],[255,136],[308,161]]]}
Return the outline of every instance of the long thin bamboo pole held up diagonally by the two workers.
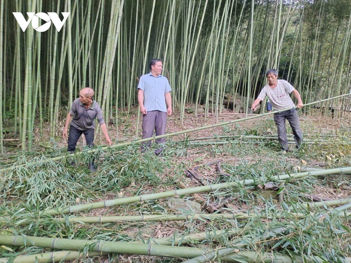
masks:
{"label": "long thin bamboo pole held up diagonally by the two workers", "polygon": [[[304,104],[304,106],[320,103],[320,102],[323,102],[323,101],[337,99],[337,98],[344,97],[344,96],[347,96],[347,95],[350,95],[350,94],[351,93],[339,95],[339,96],[332,97],[332,98],[329,98],[329,99],[324,99],[324,100],[310,102],[310,103]],[[166,137],[176,136],[176,135],[185,134],[185,133],[191,133],[191,132],[198,131],[198,130],[205,130],[205,129],[215,128],[215,127],[224,126],[224,125],[227,125],[227,124],[232,124],[232,123],[236,123],[236,122],[240,122],[240,121],[246,121],[246,120],[251,120],[251,119],[255,119],[255,118],[258,118],[258,117],[262,117],[262,116],[267,116],[267,115],[271,115],[271,114],[275,114],[275,113],[285,112],[287,110],[291,110],[291,109],[295,109],[295,108],[297,108],[297,106],[286,108],[286,109],[282,109],[282,110],[275,110],[274,112],[258,114],[258,115],[255,115],[255,116],[245,117],[245,118],[241,118],[241,119],[237,119],[237,120],[220,122],[220,123],[211,124],[211,125],[207,125],[207,126],[202,126],[202,127],[198,127],[198,128],[177,131],[177,132],[174,132],[174,133],[167,133],[167,134],[164,134],[164,135],[153,136],[153,137],[140,139],[140,140],[135,140],[135,141],[131,141],[131,142],[117,143],[117,144],[113,144],[112,146],[108,146],[108,147],[114,149],[114,148],[123,147],[123,146],[131,145],[131,144],[137,144],[137,143],[141,143],[141,142],[146,142],[146,141],[150,141],[150,140],[156,140],[156,139],[160,139],[160,138],[166,138]],[[102,147],[102,150],[106,150],[108,147]],[[95,153],[96,151],[97,151],[97,149],[92,149],[92,150],[86,151],[86,153]],[[59,161],[59,160],[64,159],[65,157],[74,156],[74,155],[78,155],[78,154],[81,154],[81,153],[82,152],[79,152],[79,153],[76,153],[76,154],[67,154],[67,155],[62,155],[62,156],[50,158],[50,159],[47,159],[47,160],[43,160],[42,163],[49,162],[49,161]],[[24,164],[0,169],[0,173],[4,172],[4,171],[13,170],[13,169],[21,167],[23,165]]]}

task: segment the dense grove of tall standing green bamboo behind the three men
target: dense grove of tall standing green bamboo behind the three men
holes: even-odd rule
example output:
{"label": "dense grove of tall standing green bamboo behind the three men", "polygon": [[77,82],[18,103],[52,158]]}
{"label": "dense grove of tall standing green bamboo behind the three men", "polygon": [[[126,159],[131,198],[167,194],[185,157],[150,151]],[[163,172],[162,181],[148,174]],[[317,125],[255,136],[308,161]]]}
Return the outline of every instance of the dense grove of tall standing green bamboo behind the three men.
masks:
{"label": "dense grove of tall standing green bamboo behind the three men", "polygon": [[[31,23],[23,32],[12,12],[70,15],[60,32]],[[186,103],[218,114],[225,94],[242,96],[247,113],[269,68],[304,103],[351,89],[349,0],[1,0],[0,16],[0,134],[14,126],[23,149],[32,148],[34,128],[43,137],[48,124],[51,137],[60,135],[84,87],[118,127],[118,110],[137,105],[152,58],[163,61],[182,123]],[[319,106],[349,109],[350,98]]]}

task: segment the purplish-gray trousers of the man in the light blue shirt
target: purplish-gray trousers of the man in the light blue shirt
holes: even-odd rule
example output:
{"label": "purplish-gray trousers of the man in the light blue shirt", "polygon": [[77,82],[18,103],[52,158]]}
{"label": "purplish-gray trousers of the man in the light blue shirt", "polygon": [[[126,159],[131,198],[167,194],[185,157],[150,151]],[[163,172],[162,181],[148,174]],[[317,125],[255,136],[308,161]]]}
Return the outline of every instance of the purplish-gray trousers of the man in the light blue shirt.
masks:
{"label": "purplish-gray trousers of the man in the light blue shirt", "polygon": [[[155,129],[156,136],[164,135],[166,133],[166,122],[167,113],[160,112],[159,110],[148,111],[143,115],[143,137],[142,139],[152,137],[153,131]],[[160,138],[156,140],[156,143],[164,143],[165,138]],[[144,153],[147,149],[151,147],[151,140],[143,142],[141,144],[141,151]],[[158,148],[155,150],[156,155],[161,155],[163,148]]]}

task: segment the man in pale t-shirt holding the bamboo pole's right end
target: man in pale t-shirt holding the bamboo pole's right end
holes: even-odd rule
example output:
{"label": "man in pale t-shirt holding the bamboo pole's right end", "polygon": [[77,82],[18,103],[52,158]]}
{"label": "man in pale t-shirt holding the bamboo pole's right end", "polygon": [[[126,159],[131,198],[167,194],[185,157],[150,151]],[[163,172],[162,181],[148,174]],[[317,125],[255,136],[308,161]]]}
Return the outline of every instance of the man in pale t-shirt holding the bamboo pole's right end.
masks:
{"label": "man in pale t-shirt holding the bamboo pole's right end", "polygon": [[[257,99],[252,103],[251,109],[256,110],[256,106],[267,96],[274,110],[282,110],[286,108],[294,107],[295,104],[290,98],[290,93],[294,94],[297,99],[297,108],[302,108],[302,103],[299,92],[294,89],[291,84],[285,80],[278,80],[278,70],[270,69],[266,73],[268,85],[266,85],[258,95]],[[294,135],[296,147],[299,148],[302,143],[302,132],[300,129],[299,116],[297,109],[290,109],[284,112],[274,113],[274,121],[278,128],[278,139],[283,151],[289,151],[287,145],[287,136],[285,129],[285,120],[288,120]]]}

